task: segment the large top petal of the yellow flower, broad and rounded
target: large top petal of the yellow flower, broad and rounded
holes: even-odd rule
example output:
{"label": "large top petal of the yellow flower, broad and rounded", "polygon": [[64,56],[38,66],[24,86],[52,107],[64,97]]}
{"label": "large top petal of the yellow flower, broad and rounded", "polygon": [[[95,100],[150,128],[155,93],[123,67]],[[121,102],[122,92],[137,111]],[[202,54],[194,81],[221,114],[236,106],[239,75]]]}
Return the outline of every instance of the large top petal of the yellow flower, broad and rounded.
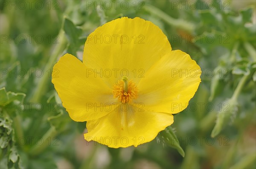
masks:
{"label": "large top petal of the yellow flower, broad and rounded", "polygon": [[107,77],[104,80],[112,87],[126,75],[137,83],[171,50],[159,27],[138,17],[122,17],[102,25],[87,37],[83,63],[93,70],[92,76]]}

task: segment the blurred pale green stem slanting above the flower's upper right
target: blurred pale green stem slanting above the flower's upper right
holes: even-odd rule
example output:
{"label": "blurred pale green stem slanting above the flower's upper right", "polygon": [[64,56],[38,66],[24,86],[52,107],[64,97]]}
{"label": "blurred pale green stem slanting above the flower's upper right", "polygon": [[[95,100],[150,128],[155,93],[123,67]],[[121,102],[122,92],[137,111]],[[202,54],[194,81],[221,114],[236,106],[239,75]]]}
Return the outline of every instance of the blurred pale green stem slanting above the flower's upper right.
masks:
{"label": "blurred pale green stem slanting above the flower's upper right", "polygon": [[150,12],[151,14],[156,15],[157,17],[160,17],[166,23],[176,28],[183,29],[185,31],[188,31],[189,33],[195,30],[195,25],[193,23],[181,19],[172,18],[168,14],[164,13],[163,11],[154,6],[147,4],[145,5],[145,10]]}

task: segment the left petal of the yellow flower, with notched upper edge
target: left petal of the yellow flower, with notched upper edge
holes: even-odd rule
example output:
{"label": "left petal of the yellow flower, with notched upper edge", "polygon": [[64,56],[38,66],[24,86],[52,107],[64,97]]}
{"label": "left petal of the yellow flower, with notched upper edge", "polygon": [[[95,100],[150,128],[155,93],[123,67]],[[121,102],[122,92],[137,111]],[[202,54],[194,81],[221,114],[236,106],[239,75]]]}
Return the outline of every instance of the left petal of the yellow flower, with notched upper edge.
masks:
{"label": "left petal of the yellow flower, with notched upper edge", "polygon": [[100,118],[115,102],[112,89],[100,78],[87,76],[85,65],[75,56],[65,54],[55,64],[52,83],[74,121]]}

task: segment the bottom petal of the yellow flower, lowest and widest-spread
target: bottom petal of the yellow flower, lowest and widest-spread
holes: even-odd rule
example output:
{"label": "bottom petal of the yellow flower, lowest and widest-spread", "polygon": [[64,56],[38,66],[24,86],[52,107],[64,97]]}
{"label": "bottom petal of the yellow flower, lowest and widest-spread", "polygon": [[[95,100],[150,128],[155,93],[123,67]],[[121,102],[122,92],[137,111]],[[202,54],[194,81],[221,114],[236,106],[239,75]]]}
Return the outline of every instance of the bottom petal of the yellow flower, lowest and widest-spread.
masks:
{"label": "bottom petal of the yellow flower, lowest and widest-spread", "polygon": [[138,146],[152,141],[158,132],[173,123],[172,114],[146,112],[141,108],[140,105],[120,104],[108,115],[87,121],[88,133],[84,138],[112,148]]}

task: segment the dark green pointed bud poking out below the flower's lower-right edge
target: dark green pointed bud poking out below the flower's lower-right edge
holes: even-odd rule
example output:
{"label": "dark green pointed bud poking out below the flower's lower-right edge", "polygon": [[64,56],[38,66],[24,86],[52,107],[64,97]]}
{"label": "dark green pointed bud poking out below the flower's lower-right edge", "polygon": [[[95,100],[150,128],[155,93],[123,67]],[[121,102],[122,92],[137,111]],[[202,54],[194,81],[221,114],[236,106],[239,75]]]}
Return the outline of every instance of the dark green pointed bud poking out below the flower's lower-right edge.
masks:
{"label": "dark green pointed bud poking out below the flower's lower-right edge", "polygon": [[181,148],[179,140],[177,136],[175,135],[172,127],[166,127],[165,130],[161,131],[159,133],[160,135],[160,141],[163,142],[163,144],[167,144],[168,146],[171,146],[172,148],[177,149],[177,151],[180,153],[182,157],[185,156],[184,150]]}

